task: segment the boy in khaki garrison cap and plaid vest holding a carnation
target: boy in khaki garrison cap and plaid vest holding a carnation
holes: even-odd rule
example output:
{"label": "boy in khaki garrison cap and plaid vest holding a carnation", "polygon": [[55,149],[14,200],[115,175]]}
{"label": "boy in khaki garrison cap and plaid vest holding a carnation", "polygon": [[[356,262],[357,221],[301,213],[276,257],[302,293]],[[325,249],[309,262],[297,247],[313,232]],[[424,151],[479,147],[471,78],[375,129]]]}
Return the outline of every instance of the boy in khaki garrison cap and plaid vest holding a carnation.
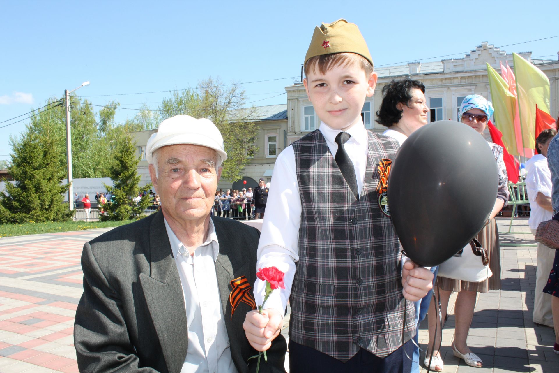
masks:
{"label": "boy in khaki garrison cap and plaid vest holding a carnation", "polygon": [[[284,271],[285,290],[272,292],[262,315],[247,314],[247,338],[266,350],[291,294],[292,373],[409,372],[414,308],[404,297],[421,299],[433,275],[411,262],[400,267],[383,182],[398,145],[363,126],[377,74],[357,26],[316,27],[305,75],[322,122],[278,156],[267,206],[274,214],[264,218],[258,245],[257,267]],[[264,283],[254,289],[262,304]]]}

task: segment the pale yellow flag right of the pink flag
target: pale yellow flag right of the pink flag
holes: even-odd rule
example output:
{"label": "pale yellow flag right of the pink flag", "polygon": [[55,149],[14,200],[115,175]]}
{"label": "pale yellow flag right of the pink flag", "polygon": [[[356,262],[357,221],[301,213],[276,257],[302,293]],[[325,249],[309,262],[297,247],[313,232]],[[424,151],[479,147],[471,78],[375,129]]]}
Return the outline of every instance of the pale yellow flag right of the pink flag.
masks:
{"label": "pale yellow flag right of the pink flag", "polygon": [[536,104],[549,114],[549,79],[542,70],[516,53],[513,53],[513,63],[524,148],[533,149],[536,146]]}

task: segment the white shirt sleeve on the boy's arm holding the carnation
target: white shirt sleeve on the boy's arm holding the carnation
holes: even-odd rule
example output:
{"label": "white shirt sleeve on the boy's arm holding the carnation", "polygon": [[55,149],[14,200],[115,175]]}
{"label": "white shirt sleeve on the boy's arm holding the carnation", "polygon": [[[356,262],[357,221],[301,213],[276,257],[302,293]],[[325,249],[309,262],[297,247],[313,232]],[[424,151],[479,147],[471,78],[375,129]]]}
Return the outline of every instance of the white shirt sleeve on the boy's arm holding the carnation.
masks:
{"label": "white shirt sleeve on the boy's arm holding the carnation", "polygon": [[[299,226],[301,224],[301,198],[295,169],[295,152],[287,147],[278,155],[266,202],[266,213],[258,243],[257,268],[277,267],[285,273],[285,289],[272,291],[264,309],[273,308],[282,315],[291,294],[295,262],[299,260]],[[254,298],[257,305],[264,300],[266,282],[256,280]]]}

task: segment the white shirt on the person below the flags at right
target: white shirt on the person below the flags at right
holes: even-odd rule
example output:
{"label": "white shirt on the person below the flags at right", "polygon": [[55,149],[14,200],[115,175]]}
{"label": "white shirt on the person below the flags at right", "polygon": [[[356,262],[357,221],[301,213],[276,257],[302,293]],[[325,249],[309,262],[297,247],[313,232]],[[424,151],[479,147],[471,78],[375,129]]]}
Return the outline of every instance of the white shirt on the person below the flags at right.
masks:
{"label": "white shirt on the person below the flags at right", "polygon": [[547,211],[536,202],[538,192],[551,197],[551,172],[547,166],[547,158],[536,154],[526,162],[526,189],[530,201],[530,229],[538,229],[539,223],[551,219],[551,211]]}

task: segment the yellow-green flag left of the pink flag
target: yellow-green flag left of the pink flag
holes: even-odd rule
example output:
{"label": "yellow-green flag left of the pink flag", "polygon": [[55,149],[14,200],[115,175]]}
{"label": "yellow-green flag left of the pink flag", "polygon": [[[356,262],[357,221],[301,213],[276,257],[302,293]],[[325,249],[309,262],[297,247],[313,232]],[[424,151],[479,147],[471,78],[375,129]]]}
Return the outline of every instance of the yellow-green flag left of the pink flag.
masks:
{"label": "yellow-green flag left of the pink flag", "polygon": [[518,154],[514,137],[514,115],[517,111],[517,98],[509,92],[509,85],[487,64],[487,78],[491,90],[491,102],[495,112],[495,126],[503,133],[503,144],[509,154]]}

